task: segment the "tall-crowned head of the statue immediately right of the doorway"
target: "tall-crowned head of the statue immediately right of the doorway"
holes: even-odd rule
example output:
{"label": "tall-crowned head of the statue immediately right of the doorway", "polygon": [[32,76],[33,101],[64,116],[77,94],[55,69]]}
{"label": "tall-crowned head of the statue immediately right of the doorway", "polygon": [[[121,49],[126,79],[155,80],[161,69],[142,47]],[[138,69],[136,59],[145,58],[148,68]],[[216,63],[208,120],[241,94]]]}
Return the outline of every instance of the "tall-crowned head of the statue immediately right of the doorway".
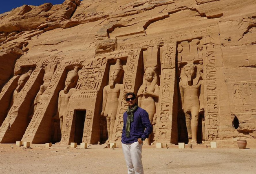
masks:
{"label": "tall-crowned head of the statue immediately right of the doorway", "polygon": [[123,72],[123,65],[121,61],[117,59],[117,63],[113,66],[109,73],[109,84],[114,85],[118,82],[119,78],[121,77]]}

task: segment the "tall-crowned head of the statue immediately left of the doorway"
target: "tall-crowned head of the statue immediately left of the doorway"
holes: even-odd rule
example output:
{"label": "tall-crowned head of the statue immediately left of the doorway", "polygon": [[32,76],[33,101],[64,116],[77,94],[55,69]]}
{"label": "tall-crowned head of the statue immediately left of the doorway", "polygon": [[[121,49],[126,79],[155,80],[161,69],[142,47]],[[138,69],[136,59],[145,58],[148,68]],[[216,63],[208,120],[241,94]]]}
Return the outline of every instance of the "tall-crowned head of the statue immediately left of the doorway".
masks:
{"label": "tall-crowned head of the statue immediately left of the doorway", "polygon": [[78,67],[75,67],[74,70],[68,72],[66,81],[64,94],[68,94],[69,89],[74,88],[78,81]]}

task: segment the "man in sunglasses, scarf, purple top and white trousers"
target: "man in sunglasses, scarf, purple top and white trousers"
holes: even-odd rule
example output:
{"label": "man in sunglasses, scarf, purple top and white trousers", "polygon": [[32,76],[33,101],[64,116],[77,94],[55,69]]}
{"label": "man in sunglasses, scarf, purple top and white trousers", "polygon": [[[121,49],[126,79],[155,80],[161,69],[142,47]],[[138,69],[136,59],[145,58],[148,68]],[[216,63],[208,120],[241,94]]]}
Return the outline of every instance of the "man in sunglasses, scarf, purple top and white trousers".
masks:
{"label": "man in sunglasses, scarf, purple top and white trousers", "polygon": [[128,174],[143,174],[141,161],[142,142],[152,132],[152,125],[148,113],[138,107],[135,99],[136,95],[134,93],[126,94],[126,102],[129,106],[124,113],[121,142]]}

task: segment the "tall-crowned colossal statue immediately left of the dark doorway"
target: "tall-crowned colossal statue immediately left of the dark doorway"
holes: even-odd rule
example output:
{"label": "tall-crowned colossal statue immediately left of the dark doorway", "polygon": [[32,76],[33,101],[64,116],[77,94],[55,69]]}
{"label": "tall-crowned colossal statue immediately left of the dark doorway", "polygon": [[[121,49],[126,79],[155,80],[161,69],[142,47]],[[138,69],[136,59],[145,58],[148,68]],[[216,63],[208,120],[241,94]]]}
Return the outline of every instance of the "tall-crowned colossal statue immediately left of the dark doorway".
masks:
{"label": "tall-crowned colossal statue immediately left of the dark doorway", "polygon": [[68,72],[66,81],[65,81],[65,88],[64,90],[60,91],[59,100],[58,100],[58,116],[60,119],[60,130],[62,133],[62,124],[63,120],[66,116],[66,111],[68,107],[68,101],[71,95],[75,92],[75,86],[78,81],[78,67],[75,67],[74,70]]}

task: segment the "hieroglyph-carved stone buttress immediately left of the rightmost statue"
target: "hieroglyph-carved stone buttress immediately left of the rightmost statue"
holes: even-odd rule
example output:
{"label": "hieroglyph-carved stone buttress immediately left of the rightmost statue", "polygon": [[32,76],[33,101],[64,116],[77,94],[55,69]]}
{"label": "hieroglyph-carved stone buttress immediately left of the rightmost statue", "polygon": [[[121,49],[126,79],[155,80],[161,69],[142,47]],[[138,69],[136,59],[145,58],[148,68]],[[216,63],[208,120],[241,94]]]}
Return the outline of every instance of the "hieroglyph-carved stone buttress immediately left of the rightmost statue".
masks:
{"label": "hieroglyph-carved stone buttress immediately left of the rightmost statue", "polygon": [[164,46],[161,60],[161,79],[159,111],[156,121],[156,141],[170,142],[172,125],[172,99],[175,78],[175,51],[174,44]]}

